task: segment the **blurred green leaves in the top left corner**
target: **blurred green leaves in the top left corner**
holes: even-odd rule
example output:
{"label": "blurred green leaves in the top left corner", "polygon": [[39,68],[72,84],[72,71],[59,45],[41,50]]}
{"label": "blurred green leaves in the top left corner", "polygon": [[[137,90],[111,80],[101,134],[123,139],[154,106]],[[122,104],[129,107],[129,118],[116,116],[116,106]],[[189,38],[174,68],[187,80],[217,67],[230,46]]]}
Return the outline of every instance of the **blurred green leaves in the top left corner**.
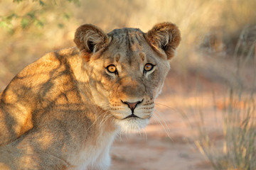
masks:
{"label": "blurred green leaves in the top left corner", "polygon": [[[68,1],[72,2],[73,0]],[[74,0],[73,2],[78,5],[80,4],[80,2],[77,0]],[[70,18],[70,14],[68,12],[53,12],[53,6],[58,6],[57,1],[14,0],[13,4],[14,6],[8,8],[8,10],[5,11],[4,16],[1,16],[0,21],[0,26],[9,30],[11,34],[14,34],[16,31],[18,31],[17,29],[20,27],[23,30],[26,28],[30,28],[31,26],[42,28],[47,20],[46,15],[48,15],[49,13],[55,16],[55,21],[58,21],[57,19],[60,19],[60,17],[63,17],[65,19]],[[63,23],[59,22],[58,26],[60,28],[63,28]]]}

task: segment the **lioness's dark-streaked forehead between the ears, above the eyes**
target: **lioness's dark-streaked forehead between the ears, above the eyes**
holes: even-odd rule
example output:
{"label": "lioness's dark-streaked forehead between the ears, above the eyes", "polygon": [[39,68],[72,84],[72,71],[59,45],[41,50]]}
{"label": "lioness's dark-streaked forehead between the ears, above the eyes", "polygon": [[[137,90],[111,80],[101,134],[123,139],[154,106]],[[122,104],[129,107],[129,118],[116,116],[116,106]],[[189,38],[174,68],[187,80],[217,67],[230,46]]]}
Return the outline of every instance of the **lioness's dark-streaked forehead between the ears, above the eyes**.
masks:
{"label": "lioness's dark-streaked forehead between the ears, above the eyes", "polygon": [[105,64],[114,62],[124,66],[139,67],[145,62],[154,62],[154,51],[144,38],[144,33],[137,28],[113,30],[108,34],[110,44],[103,54]]}

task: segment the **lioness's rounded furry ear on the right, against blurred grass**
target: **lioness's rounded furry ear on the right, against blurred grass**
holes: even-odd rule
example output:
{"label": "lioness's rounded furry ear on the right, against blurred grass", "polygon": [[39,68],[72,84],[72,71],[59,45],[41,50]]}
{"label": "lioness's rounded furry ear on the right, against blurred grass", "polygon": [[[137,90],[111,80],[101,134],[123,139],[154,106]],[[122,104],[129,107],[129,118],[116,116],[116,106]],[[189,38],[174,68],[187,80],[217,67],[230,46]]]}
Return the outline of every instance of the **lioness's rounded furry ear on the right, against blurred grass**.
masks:
{"label": "lioness's rounded furry ear on the right, against blurred grass", "polygon": [[181,32],[174,23],[159,23],[146,33],[146,39],[156,50],[164,50],[170,60],[181,41]]}

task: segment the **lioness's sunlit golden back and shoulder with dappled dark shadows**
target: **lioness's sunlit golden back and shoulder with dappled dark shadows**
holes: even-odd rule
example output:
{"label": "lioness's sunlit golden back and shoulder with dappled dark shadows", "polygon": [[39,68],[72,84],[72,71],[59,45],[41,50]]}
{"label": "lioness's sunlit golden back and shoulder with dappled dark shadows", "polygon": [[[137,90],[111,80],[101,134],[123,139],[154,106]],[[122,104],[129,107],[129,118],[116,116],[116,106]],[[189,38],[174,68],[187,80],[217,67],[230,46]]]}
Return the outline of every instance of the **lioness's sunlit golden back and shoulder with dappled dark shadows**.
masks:
{"label": "lioness's sunlit golden back and shoulder with dappled dark shadows", "polygon": [[[33,128],[34,114],[46,111],[53,103],[63,104],[68,98],[80,102],[70,65],[80,62],[78,56],[75,47],[48,52],[11,80],[0,94],[0,145]],[[14,125],[14,130],[10,131],[8,125]]]}

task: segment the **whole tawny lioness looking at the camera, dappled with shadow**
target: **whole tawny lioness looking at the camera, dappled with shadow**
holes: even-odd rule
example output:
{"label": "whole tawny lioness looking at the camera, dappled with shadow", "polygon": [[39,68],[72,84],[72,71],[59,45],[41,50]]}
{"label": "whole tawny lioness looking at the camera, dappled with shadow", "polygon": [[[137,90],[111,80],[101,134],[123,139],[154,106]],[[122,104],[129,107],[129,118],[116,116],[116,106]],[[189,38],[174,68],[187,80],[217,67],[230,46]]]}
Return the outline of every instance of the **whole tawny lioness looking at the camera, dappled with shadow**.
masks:
{"label": "whole tawny lioness looking at the camera, dappled with shadow", "polygon": [[80,26],[77,47],[41,57],[1,92],[0,169],[108,169],[117,132],[149,122],[180,40],[173,23]]}

